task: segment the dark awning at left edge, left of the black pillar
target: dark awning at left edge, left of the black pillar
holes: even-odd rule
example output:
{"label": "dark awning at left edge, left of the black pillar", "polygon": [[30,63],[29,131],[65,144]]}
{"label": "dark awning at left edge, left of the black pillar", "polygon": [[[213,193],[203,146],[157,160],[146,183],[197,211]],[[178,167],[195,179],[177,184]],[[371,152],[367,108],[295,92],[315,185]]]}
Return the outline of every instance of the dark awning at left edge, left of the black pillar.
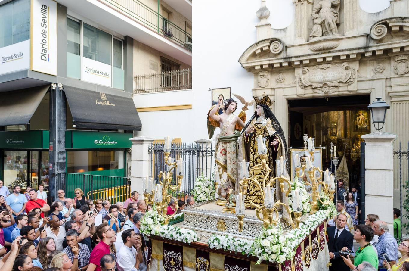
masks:
{"label": "dark awning at left edge, left of the black pillar", "polygon": [[0,92],[0,126],[29,123],[49,87]]}

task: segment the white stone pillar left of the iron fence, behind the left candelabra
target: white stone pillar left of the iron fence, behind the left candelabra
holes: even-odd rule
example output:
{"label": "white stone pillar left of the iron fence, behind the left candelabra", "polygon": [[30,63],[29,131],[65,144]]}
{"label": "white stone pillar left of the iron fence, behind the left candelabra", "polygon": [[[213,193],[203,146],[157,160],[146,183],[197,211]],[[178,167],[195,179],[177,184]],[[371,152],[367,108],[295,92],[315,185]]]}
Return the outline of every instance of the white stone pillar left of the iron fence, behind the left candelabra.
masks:
{"label": "white stone pillar left of the iron fence, behind the left candelabra", "polygon": [[152,156],[148,154],[148,147],[153,138],[138,136],[129,140],[132,142],[130,190],[139,192],[139,199],[144,199],[142,183],[144,177],[151,177]]}

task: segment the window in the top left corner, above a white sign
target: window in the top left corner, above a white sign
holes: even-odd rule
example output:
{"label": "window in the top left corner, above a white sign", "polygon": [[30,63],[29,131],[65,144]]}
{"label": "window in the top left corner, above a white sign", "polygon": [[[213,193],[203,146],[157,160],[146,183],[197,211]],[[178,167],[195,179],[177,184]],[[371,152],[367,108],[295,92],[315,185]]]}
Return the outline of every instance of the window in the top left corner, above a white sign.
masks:
{"label": "window in the top left corner, above a white sign", "polygon": [[0,6],[0,48],[30,39],[30,0]]}

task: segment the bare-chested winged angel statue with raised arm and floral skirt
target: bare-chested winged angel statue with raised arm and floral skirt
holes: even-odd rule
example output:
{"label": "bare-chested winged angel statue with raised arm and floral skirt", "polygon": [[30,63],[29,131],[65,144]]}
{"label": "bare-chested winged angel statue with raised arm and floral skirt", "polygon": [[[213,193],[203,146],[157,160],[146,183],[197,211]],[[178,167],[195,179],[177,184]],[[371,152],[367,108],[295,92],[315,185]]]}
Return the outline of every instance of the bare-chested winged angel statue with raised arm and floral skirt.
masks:
{"label": "bare-chested winged angel statue with raised arm and floral skirt", "polygon": [[220,180],[223,172],[226,172],[227,178],[225,183],[218,187],[219,199],[224,201],[226,188],[231,187],[235,193],[237,179],[237,139],[240,137],[240,130],[244,127],[246,114],[240,112],[238,116],[234,115],[237,108],[237,102],[234,99],[228,99],[224,102],[224,113],[218,114],[218,108],[223,103],[223,98],[219,96],[218,104],[215,104],[209,111],[207,120],[207,129],[209,139],[213,137],[215,127],[221,127],[220,133],[216,136],[215,160]]}

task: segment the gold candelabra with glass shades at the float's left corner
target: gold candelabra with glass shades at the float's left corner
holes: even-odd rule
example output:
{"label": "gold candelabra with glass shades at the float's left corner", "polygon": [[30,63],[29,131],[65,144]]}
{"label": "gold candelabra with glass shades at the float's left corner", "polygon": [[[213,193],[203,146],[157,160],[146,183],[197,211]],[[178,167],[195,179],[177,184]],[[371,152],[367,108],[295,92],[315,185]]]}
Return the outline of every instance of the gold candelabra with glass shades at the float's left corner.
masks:
{"label": "gold candelabra with glass shades at the float's left corner", "polygon": [[[158,214],[164,218],[164,224],[168,224],[169,219],[174,217],[178,212],[178,199],[172,196],[172,192],[176,192],[182,185],[184,175],[185,161],[178,160],[174,162],[170,158],[170,139],[169,136],[165,138],[164,146],[164,162],[167,167],[164,171],[160,171],[158,176],[158,184],[155,185],[153,179],[151,182],[145,180],[144,197],[146,204],[155,204]],[[176,181],[173,180],[173,172],[176,171]],[[146,177],[147,178],[147,177]],[[169,203],[173,200],[175,202],[175,212],[172,215],[167,215],[167,208]]]}

